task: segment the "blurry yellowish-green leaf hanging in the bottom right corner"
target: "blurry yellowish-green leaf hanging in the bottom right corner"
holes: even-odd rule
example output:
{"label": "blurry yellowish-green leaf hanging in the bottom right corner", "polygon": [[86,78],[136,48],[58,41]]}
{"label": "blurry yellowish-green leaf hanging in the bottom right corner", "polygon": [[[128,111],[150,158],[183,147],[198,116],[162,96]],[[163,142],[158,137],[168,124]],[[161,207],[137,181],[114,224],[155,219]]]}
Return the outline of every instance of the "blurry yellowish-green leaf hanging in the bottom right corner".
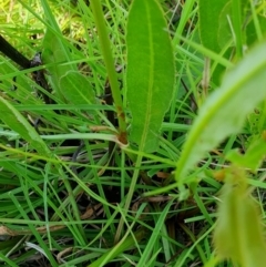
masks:
{"label": "blurry yellowish-green leaf hanging in the bottom right corner", "polygon": [[231,168],[222,188],[214,245],[221,259],[264,267],[266,245],[258,207],[248,195],[245,173]]}

